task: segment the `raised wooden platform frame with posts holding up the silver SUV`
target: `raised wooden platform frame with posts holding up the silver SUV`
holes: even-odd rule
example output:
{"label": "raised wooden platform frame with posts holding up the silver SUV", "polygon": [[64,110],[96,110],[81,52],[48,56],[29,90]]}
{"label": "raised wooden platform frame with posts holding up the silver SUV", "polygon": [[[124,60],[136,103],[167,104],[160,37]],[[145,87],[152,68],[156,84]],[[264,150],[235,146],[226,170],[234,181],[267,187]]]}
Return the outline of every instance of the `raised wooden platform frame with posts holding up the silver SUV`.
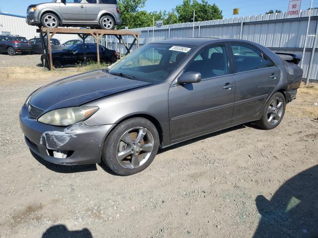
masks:
{"label": "raised wooden platform frame with posts holding up the silver SUV", "polygon": [[[102,30],[102,29],[87,29],[87,28],[47,28],[42,27],[41,29],[37,29],[37,32],[40,33],[41,41],[42,41],[42,47],[45,52],[44,64],[47,61],[49,69],[53,69],[53,60],[52,60],[52,47],[51,47],[51,39],[55,34],[75,34],[78,35],[83,40],[84,45],[84,60],[85,60],[85,39],[88,36],[94,37],[96,40],[96,48],[97,48],[97,62],[99,63],[99,39],[103,35],[110,35],[115,36],[119,41],[119,58],[121,58],[121,43],[123,43],[124,47],[127,50],[127,54],[130,53],[132,47],[137,41],[137,48],[139,48],[139,35],[140,33],[138,31],[128,31],[128,30]],[[124,41],[123,36],[133,36],[134,40],[130,47],[128,47],[128,44]],[[45,40],[45,37],[47,39]]]}

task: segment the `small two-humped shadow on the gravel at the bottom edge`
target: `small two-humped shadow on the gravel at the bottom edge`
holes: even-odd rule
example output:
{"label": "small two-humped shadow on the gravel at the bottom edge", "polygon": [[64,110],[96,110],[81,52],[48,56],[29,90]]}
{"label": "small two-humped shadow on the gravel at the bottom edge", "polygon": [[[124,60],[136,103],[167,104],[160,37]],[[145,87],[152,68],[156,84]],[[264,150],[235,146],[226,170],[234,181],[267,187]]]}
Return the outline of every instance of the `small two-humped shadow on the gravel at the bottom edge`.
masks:
{"label": "small two-humped shadow on the gravel at the bottom edge", "polygon": [[87,228],[69,231],[65,225],[55,225],[47,229],[42,238],[93,238],[93,236]]}

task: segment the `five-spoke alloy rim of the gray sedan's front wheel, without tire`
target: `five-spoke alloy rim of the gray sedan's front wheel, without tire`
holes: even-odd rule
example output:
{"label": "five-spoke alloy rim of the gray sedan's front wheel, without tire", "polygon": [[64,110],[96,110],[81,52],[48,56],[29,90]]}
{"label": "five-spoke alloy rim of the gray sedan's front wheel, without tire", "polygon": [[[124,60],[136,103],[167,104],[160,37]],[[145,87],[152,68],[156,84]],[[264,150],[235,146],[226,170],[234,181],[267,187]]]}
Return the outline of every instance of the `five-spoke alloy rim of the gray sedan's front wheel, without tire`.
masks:
{"label": "five-spoke alloy rim of the gray sedan's front wheel, without tire", "polygon": [[154,149],[154,136],[146,127],[127,130],[119,139],[116,148],[118,163],[126,169],[144,165]]}

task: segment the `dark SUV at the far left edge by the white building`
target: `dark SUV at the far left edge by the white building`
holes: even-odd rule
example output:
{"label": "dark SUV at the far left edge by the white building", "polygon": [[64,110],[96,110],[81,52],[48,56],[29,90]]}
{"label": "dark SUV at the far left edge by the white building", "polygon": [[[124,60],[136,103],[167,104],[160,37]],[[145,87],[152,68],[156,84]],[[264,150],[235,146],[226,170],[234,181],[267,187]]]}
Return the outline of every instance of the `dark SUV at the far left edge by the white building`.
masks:
{"label": "dark SUV at the far left edge by the white building", "polygon": [[6,52],[9,56],[15,53],[31,52],[31,43],[22,36],[0,36],[0,52]]}

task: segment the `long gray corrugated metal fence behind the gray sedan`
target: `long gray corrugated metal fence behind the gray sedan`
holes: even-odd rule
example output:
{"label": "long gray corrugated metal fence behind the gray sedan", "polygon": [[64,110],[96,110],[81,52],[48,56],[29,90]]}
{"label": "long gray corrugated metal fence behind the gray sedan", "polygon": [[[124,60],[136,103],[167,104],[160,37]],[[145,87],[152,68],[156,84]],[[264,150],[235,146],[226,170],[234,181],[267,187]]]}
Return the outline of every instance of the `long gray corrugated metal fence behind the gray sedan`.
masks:
{"label": "long gray corrugated metal fence behind the gray sedan", "polygon": [[[309,12],[310,10],[301,11],[300,17],[292,19],[286,19],[286,12],[283,12],[195,22],[194,37],[241,38],[259,43],[274,51],[303,54]],[[242,28],[241,22],[243,22]],[[318,9],[313,9],[309,35],[315,35],[317,23]],[[192,37],[192,27],[192,23],[166,25],[162,29],[155,29],[154,38],[153,27],[131,30],[141,32],[140,45],[142,46],[153,41]],[[110,46],[119,51],[118,41],[112,37],[108,39],[113,42]],[[124,40],[127,39],[124,38]],[[128,44],[130,45],[132,41],[133,37],[129,37]],[[313,42],[314,37],[309,37],[303,63],[304,78],[307,77]],[[125,53],[124,47],[121,48],[122,53]],[[318,53],[315,53],[310,78],[318,79]]]}

